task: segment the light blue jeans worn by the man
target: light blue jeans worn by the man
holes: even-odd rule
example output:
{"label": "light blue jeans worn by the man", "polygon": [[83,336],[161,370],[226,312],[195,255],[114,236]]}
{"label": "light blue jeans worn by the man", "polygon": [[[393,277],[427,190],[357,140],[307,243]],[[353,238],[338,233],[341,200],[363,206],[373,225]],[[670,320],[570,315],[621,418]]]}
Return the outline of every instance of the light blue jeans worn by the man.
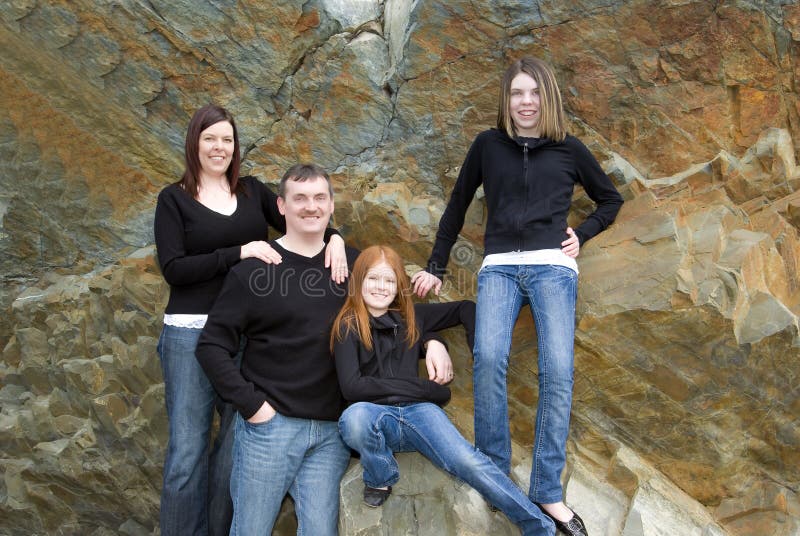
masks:
{"label": "light blue jeans worn by the man", "polygon": [[233,439],[231,536],[269,536],[288,492],[297,534],[336,536],[339,482],[350,449],[336,421],[285,417],[251,424],[236,415]]}

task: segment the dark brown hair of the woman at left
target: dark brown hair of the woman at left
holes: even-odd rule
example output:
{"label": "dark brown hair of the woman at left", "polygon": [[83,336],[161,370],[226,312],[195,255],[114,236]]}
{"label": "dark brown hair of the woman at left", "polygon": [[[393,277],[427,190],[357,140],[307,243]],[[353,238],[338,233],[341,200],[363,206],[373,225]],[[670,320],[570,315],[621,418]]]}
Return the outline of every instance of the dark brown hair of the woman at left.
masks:
{"label": "dark brown hair of the woman at left", "polygon": [[239,152],[239,133],[236,130],[236,122],[233,120],[228,110],[216,104],[207,104],[199,108],[189,121],[189,128],[186,130],[186,141],[184,142],[183,157],[186,161],[186,169],[183,172],[183,177],[178,181],[181,188],[192,197],[197,197],[197,187],[200,183],[200,134],[213,124],[220,121],[227,121],[233,127],[233,154],[231,155],[231,164],[225,171],[228,177],[228,185],[231,192],[238,192],[242,190],[239,184],[239,168],[242,164],[242,157]]}

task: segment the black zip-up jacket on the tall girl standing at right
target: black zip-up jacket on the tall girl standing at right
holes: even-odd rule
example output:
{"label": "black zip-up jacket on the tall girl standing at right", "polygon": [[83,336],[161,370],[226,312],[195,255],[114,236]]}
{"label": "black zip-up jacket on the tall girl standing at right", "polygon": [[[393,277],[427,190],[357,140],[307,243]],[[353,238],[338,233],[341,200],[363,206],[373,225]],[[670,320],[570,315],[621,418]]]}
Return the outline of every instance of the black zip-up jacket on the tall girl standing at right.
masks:
{"label": "black zip-up jacket on the tall girl standing at right", "polygon": [[512,139],[504,131],[478,134],[467,152],[439,221],[427,271],[441,278],[464,215],[483,184],[488,217],[485,254],[561,248],[576,184],[597,204],[576,229],[580,244],[608,227],[622,196],[586,146],[574,136]]}

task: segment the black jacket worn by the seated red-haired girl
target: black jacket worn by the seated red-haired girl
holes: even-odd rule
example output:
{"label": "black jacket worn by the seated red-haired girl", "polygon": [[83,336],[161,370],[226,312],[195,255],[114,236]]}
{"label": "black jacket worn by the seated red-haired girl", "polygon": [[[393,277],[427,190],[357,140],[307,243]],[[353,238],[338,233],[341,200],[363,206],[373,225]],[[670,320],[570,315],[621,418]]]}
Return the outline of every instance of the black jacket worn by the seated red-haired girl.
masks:
{"label": "black jacket worn by the seated red-haired girl", "polygon": [[414,306],[420,339],[410,348],[406,324],[397,311],[377,318],[370,316],[372,350],[361,343],[358,333],[346,333],[333,348],[336,375],[342,395],[349,403],[372,402],[393,405],[407,402],[450,400],[450,389],[420,378],[418,363],[426,334],[463,324],[472,348],[475,333],[475,302],[423,303]]}

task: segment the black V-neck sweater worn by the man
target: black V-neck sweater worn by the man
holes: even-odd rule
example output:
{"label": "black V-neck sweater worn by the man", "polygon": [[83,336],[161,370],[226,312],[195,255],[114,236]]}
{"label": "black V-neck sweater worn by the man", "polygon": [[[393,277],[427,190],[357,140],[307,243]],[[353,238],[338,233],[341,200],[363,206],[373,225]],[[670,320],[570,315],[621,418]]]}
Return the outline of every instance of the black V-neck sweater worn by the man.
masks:
{"label": "black V-neck sweater worn by the man", "polygon": [[[343,409],[329,349],[346,283],[325,268],[325,252],[304,257],[270,243],[280,264],[245,259],[230,270],[208,315],[197,359],[214,388],[245,419],[264,401],[281,415],[335,421]],[[347,248],[352,267],[358,252]],[[233,357],[247,337],[241,368]]]}

